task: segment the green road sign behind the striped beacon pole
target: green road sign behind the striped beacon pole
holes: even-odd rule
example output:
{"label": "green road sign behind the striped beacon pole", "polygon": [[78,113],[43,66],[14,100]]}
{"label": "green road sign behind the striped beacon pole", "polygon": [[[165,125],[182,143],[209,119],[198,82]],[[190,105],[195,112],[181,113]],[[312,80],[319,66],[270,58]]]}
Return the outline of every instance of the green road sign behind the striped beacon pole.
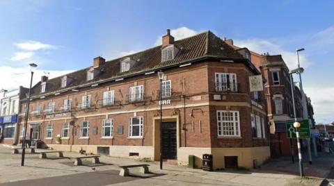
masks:
{"label": "green road sign behind the striped beacon pole", "polygon": [[[303,121],[298,121],[301,123],[301,128],[299,128],[300,138],[310,138],[310,124],[308,123],[308,119],[303,119]],[[294,121],[287,121],[287,137],[296,138],[296,128],[294,128]]]}

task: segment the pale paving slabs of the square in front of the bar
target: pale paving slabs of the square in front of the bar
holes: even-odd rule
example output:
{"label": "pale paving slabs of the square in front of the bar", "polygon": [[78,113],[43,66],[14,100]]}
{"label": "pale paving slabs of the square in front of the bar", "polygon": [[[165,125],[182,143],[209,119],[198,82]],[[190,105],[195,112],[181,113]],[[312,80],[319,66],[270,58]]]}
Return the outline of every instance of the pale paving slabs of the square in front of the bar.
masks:
{"label": "pale paving slabs of the square in front of the bar", "polygon": [[[36,151],[40,151],[37,149]],[[44,150],[43,150],[44,151]],[[8,147],[0,145],[0,184],[6,183],[24,185],[44,183],[42,180],[54,180],[48,186],[58,185],[57,180],[71,183],[77,178],[96,178],[96,172],[119,171],[118,166],[125,164],[142,164],[137,160],[126,158],[111,158],[101,156],[103,164],[91,164],[83,161],[83,166],[74,166],[73,160],[67,157],[79,156],[79,153],[65,152],[64,158],[56,158],[56,155],[48,155],[47,159],[38,158],[38,154],[26,155],[26,166],[21,167],[21,155],[12,154]],[[141,174],[138,168],[130,169],[133,180],[122,180],[118,175],[101,177],[102,185],[319,185],[322,179],[311,178],[301,180],[296,175],[266,170],[254,171],[202,171],[188,167],[164,164],[164,169],[159,169],[159,162],[145,162],[150,164],[153,174]],[[109,178],[109,179],[108,179]],[[120,180],[113,182],[113,180]],[[24,181],[24,182],[20,182]],[[75,182],[75,181],[74,181]],[[84,183],[89,183],[88,181]],[[84,184],[83,183],[83,184]]]}

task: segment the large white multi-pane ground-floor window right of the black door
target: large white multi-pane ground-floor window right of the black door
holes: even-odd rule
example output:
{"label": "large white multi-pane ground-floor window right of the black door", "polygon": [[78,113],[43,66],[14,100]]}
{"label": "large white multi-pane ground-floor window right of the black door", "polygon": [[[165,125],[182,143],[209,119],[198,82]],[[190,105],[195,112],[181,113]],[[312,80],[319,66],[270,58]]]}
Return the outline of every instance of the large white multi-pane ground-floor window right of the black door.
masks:
{"label": "large white multi-pane ground-floor window right of the black door", "polygon": [[[231,113],[232,118],[228,116]],[[232,130],[230,130],[231,127]],[[227,130],[225,134],[224,129]],[[241,137],[239,111],[217,110],[217,135],[218,137]]]}

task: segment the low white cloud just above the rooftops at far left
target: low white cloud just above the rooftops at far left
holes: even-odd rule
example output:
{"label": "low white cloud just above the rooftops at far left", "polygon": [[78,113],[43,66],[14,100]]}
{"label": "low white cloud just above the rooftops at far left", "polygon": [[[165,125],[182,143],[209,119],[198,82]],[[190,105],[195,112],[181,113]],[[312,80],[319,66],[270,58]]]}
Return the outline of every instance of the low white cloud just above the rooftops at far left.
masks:
{"label": "low white cloud just above the rooftops at far left", "polygon": [[[0,67],[0,88],[5,90],[17,89],[20,85],[29,87],[30,84],[30,69],[28,67]],[[33,74],[33,85],[40,81],[40,77],[44,76],[44,71],[49,72],[49,78],[62,76],[72,72],[71,70],[64,71],[49,71],[44,69],[38,69]]]}

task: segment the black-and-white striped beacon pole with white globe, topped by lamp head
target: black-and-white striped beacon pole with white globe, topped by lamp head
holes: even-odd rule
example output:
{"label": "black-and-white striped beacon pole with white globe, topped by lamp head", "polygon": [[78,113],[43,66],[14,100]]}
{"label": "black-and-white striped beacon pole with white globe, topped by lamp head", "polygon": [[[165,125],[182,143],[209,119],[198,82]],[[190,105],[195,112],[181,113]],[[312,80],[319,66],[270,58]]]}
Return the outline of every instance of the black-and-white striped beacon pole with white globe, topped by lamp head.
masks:
{"label": "black-and-white striped beacon pole with white globe, topped by lamp head", "polygon": [[300,142],[300,136],[299,136],[299,128],[301,127],[301,124],[297,121],[297,115],[296,115],[296,105],[294,102],[294,82],[292,80],[292,74],[301,74],[303,73],[304,69],[299,67],[298,69],[294,69],[289,72],[290,75],[290,81],[291,81],[291,92],[292,92],[292,105],[294,106],[294,128],[296,128],[296,137],[297,137],[297,147],[298,147],[298,158],[299,158],[299,174],[301,177],[304,176],[304,169],[303,169],[303,162],[302,162],[302,156],[301,156],[301,142]]}

